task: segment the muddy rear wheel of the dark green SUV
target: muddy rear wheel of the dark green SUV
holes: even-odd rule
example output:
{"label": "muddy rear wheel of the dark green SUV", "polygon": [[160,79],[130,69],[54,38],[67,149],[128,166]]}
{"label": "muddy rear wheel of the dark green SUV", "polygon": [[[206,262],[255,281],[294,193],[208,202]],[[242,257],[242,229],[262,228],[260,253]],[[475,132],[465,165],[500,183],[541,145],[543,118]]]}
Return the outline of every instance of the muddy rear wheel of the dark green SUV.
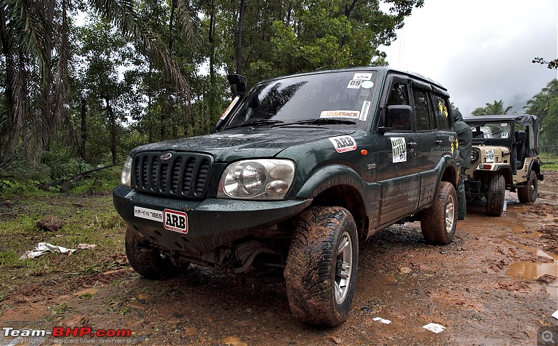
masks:
{"label": "muddy rear wheel of the dark green SUV", "polygon": [[421,229],[426,241],[439,245],[453,241],[458,220],[456,201],[457,195],[453,185],[441,181],[434,204],[422,213]]}

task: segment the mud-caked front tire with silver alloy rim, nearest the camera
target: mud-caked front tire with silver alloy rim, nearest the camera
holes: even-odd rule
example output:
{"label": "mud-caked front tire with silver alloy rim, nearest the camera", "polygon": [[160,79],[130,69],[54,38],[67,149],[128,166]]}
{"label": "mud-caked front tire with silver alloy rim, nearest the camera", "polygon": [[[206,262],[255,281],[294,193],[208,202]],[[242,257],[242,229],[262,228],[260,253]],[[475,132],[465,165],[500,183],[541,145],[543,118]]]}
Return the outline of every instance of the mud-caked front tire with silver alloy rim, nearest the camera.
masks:
{"label": "mud-caked front tire with silver alloy rim, nearest the camera", "polygon": [[315,206],[303,212],[284,272],[295,317],[319,326],[345,321],[351,310],[358,262],[356,225],[347,209]]}

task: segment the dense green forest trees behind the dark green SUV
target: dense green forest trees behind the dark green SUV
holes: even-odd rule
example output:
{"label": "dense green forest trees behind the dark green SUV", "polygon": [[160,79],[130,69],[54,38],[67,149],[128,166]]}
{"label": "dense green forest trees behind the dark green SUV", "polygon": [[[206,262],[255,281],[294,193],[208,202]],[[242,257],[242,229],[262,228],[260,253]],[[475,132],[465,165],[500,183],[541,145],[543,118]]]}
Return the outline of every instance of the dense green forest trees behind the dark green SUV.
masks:
{"label": "dense green forest trees behind the dark green SUV", "polygon": [[250,87],[316,68],[384,65],[379,45],[422,5],[3,0],[0,176],[17,168],[56,180],[56,165],[69,176],[122,162],[138,144],[209,133],[232,98],[228,73]]}

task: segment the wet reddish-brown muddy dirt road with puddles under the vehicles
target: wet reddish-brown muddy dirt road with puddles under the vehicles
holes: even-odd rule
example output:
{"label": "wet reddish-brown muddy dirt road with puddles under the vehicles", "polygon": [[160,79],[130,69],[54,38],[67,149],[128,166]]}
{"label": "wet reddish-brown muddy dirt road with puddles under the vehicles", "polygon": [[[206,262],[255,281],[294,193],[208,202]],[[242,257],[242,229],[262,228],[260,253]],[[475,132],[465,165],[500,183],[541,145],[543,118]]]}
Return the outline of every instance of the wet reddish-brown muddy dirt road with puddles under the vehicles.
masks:
{"label": "wet reddish-brown muddy dirt road with puddles under the vehicles", "polygon": [[534,204],[508,195],[499,218],[469,213],[448,246],[425,243],[418,223],[361,243],[352,312],[335,329],[296,322],[281,283],[234,286],[199,266],[162,282],[126,265],[30,280],[3,297],[0,323],[129,330],[120,341],[145,345],[536,345],[539,329],[558,326],[557,172],[539,192]]}

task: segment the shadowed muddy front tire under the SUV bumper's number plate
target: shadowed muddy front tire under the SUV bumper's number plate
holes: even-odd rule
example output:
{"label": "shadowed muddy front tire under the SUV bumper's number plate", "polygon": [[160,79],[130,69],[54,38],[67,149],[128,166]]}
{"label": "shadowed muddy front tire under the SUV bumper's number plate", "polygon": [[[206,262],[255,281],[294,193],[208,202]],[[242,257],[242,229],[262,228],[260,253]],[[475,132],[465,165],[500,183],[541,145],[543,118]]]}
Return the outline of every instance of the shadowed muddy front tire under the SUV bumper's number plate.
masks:
{"label": "shadowed muddy front tire under the SUV bumper's number plate", "polygon": [[126,230],[124,239],[126,257],[132,268],[146,279],[162,280],[176,276],[179,269],[168,259],[165,259],[156,248],[140,244],[134,230]]}

